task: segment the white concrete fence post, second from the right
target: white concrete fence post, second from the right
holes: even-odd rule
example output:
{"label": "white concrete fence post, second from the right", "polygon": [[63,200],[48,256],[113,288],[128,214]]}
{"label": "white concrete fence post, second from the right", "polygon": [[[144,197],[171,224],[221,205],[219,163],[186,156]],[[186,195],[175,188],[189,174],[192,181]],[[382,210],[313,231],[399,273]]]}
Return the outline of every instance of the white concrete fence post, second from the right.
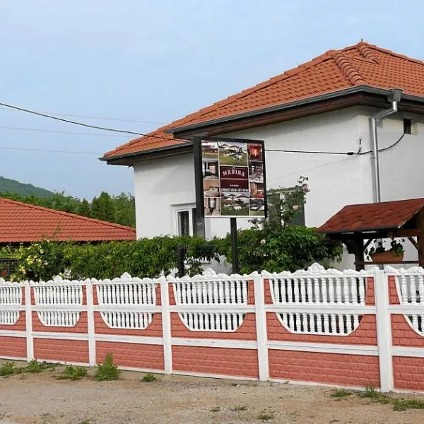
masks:
{"label": "white concrete fence post, second from the right", "polygon": [[269,379],[268,348],[266,348],[266,312],[264,278],[256,273],[253,278],[254,285],[254,313],[257,328],[257,350],[259,365],[259,380],[264,382]]}

